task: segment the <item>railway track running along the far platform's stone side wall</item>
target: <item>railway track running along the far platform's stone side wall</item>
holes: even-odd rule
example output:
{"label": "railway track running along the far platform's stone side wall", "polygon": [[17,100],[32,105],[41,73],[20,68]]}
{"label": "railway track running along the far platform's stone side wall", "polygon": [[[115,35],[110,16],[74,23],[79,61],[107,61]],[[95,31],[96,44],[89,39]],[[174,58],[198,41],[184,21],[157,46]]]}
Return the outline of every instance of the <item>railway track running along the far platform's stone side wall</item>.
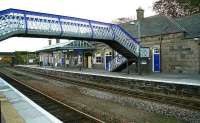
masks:
{"label": "railway track running along the far platform's stone side wall", "polygon": [[35,71],[34,72],[26,71],[26,72],[36,74],[38,76],[47,77],[47,78],[50,78],[53,80],[59,80],[61,82],[66,81],[68,83],[79,85],[79,86],[89,87],[89,88],[93,88],[93,89],[98,89],[98,90],[108,91],[111,93],[120,94],[120,95],[132,96],[135,98],[140,98],[140,99],[145,99],[145,100],[150,100],[150,101],[154,101],[154,102],[160,102],[160,103],[164,103],[164,104],[169,104],[169,105],[174,105],[174,106],[178,106],[178,107],[182,107],[182,108],[200,111],[200,101],[199,100],[191,100],[191,99],[186,99],[186,98],[181,98],[181,97],[147,93],[147,92],[136,91],[133,89],[130,90],[130,89],[125,89],[125,88],[115,88],[115,87],[111,87],[111,86],[100,85],[100,84],[91,83],[91,82],[85,82],[82,80],[77,80],[75,78],[61,78],[59,76],[45,74],[42,72],[35,72]]}

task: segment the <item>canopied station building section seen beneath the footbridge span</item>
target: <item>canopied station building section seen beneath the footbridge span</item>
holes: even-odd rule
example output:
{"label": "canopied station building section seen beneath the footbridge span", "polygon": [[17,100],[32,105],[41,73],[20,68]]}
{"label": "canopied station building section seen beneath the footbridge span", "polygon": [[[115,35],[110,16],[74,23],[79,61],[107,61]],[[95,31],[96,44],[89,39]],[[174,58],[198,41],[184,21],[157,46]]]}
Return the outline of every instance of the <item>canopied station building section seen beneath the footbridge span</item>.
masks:
{"label": "canopied station building section seen beneath the footbridge span", "polygon": [[49,45],[38,50],[41,66],[94,68],[109,70],[109,63],[113,58],[113,50],[99,42],[82,40],[66,40]]}

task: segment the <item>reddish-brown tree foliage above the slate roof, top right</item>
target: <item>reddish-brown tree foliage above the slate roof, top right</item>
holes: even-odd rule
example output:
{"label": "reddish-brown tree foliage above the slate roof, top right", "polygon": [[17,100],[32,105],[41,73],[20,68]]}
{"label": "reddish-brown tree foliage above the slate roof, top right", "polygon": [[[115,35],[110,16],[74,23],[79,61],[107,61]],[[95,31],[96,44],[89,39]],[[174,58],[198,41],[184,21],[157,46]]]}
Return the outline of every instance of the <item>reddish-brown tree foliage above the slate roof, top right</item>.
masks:
{"label": "reddish-brown tree foliage above the slate roof, top right", "polygon": [[158,0],[153,4],[156,13],[182,17],[200,13],[200,0]]}

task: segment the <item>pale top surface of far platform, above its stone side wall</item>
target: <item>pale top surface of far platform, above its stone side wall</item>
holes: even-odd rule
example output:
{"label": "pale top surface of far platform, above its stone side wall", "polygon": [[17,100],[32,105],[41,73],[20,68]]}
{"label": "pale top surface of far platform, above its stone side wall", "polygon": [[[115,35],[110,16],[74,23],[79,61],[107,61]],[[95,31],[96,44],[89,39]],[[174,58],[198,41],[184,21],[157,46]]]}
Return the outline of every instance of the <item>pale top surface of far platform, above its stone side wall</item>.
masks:
{"label": "pale top surface of far platform, above its stone side wall", "polygon": [[41,67],[41,66],[36,66],[36,65],[18,65],[18,66],[63,71],[63,72],[70,72],[70,73],[87,74],[87,75],[114,77],[114,78],[200,86],[200,74],[189,75],[189,74],[153,73],[153,74],[145,74],[145,75],[136,75],[136,74],[121,73],[121,72],[109,72],[109,71],[97,70],[97,69],[79,70],[79,69],[68,69],[68,68],[63,69],[63,68]]}

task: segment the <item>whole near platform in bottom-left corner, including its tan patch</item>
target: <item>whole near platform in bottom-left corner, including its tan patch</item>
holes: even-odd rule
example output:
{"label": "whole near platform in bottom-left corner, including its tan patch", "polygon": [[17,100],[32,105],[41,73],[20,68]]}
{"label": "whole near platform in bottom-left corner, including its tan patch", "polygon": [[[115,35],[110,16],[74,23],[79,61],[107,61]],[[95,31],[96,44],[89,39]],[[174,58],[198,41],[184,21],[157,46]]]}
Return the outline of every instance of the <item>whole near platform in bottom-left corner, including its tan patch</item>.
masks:
{"label": "whole near platform in bottom-left corner, including its tan patch", "polygon": [[62,123],[0,78],[2,123]]}

